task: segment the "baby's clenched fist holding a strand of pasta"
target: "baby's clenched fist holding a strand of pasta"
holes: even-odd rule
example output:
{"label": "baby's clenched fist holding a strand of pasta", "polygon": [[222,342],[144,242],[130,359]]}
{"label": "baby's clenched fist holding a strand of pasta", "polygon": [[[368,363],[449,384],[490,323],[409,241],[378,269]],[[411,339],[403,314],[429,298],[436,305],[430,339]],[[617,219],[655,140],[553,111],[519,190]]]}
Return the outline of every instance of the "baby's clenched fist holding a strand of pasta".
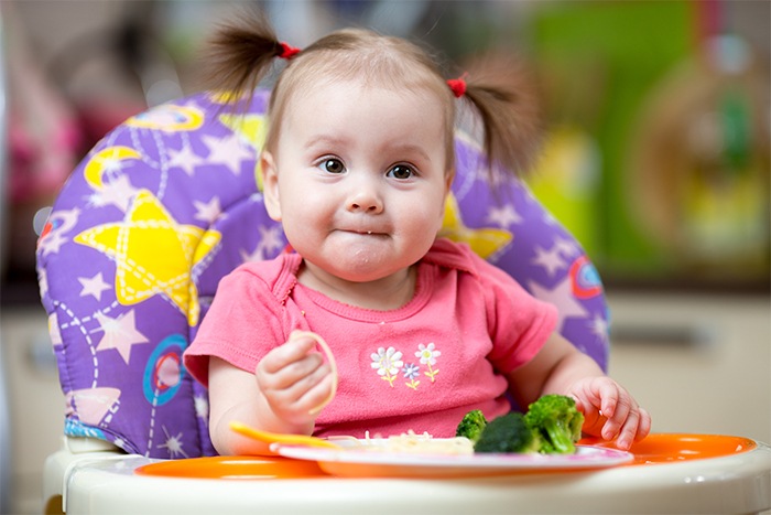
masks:
{"label": "baby's clenched fist holding a strand of pasta", "polygon": [[311,352],[315,345],[313,337],[292,333],[289,342],[265,354],[254,371],[273,414],[293,425],[313,421],[315,408],[333,390],[330,366],[322,354]]}

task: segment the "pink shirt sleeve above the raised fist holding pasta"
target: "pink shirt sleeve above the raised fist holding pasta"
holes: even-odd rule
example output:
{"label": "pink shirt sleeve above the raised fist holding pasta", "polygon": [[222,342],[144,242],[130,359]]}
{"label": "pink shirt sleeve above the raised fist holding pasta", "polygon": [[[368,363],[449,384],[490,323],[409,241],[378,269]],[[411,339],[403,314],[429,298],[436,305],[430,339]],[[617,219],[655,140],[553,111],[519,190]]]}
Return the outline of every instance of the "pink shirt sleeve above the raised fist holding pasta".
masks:
{"label": "pink shirt sleeve above the raised fist holding pasta", "polygon": [[284,310],[265,282],[243,266],[224,277],[198,332],[184,353],[185,368],[208,387],[209,357],[253,373],[264,354],[285,341]]}

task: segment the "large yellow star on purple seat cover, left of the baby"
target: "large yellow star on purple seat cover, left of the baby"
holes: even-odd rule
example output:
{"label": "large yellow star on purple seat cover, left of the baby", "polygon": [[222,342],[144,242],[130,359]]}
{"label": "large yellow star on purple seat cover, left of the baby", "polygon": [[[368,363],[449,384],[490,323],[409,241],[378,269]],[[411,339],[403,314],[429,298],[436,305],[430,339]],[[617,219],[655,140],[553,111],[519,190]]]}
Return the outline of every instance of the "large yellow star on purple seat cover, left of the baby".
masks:
{"label": "large yellow star on purple seat cover, left of the baby", "polygon": [[219,244],[221,234],[182,225],[163,204],[142,190],[123,222],[84,230],[75,242],[116,261],[116,298],[124,305],[161,294],[196,325],[200,307],[191,270]]}

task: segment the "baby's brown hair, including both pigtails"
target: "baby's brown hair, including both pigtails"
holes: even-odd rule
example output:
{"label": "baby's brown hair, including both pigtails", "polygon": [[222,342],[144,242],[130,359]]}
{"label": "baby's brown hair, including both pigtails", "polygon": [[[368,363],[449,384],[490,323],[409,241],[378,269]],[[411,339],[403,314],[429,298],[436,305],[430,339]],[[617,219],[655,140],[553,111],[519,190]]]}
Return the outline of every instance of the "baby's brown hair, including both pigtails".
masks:
{"label": "baby's brown hair, including both pigtails", "polygon": [[[228,92],[231,100],[250,97],[284,50],[263,14],[243,13],[224,24],[210,42],[205,62],[207,87]],[[465,94],[458,99],[434,57],[419,45],[369,30],[339,30],[289,58],[280,72],[270,98],[265,148],[274,149],[282,118],[295,95],[324,82],[360,81],[394,90],[424,90],[441,99],[448,170],[455,163],[457,103],[469,101],[482,124],[490,170],[498,163],[506,171],[520,173],[531,165],[541,130],[537,103],[523,87],[525,82],[512,77],[512,71],[510,66],[478,68],[465,77]]]}

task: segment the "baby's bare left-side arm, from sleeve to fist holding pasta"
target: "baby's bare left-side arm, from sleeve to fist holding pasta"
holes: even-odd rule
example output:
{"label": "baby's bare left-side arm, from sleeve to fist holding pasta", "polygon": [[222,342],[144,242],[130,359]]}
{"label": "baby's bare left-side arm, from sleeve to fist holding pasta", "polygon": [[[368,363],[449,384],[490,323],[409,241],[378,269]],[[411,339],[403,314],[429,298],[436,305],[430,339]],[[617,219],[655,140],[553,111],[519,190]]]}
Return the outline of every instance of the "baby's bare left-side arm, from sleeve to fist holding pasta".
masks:
{"label": "baby's bare left-side arm, from sleeve to fist holding pasta", "polygon": [[290,339],[269,352],[251,374],[209,361],[209,433],[220,454],[264,454],[267,446],[230,430],[236,420],[263,431],[311,434],[313,409],[328,397],[329,366],[310,337]]}

